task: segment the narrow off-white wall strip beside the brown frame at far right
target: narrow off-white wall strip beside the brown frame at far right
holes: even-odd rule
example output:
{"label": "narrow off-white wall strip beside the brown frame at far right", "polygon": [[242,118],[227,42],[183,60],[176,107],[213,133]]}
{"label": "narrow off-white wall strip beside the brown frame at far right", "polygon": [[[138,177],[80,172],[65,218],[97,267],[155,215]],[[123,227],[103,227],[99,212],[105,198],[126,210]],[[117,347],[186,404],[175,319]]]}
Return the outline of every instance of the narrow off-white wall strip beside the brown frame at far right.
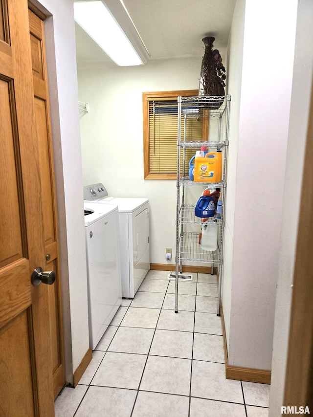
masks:
{"label": "narrow off-white wall strip beside the brown frame at far right", "polygon": [[[313,7],[311,0],[298,1],[295,62],[293,68],[291,116],[283,198],[281,252],[276,295],[272,379],[269,416],[281,416],[284,405],[286,360],[300,190],[313,79]],[[305,178],[304,178],[305,181]],[[291,190],[298,190],[291,201]],[[311,192],[311,191],[310,191]],[[302,196],[305,198],[305,196]]]}

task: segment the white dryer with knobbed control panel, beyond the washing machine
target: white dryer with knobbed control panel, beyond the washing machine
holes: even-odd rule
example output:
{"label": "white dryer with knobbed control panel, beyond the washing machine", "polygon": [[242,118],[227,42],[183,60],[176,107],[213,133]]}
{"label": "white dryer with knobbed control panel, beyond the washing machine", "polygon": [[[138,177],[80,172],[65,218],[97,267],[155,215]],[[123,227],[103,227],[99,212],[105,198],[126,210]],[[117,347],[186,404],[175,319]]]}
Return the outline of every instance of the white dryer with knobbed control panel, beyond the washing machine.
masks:
{"label": "white dryer with knobbed control panel, beyond the washing machine", "polygon": [[148,198],[109,197],[97,183],[84,187],[84,199],[118,206],[122,296],[134,298],[150,269]]}

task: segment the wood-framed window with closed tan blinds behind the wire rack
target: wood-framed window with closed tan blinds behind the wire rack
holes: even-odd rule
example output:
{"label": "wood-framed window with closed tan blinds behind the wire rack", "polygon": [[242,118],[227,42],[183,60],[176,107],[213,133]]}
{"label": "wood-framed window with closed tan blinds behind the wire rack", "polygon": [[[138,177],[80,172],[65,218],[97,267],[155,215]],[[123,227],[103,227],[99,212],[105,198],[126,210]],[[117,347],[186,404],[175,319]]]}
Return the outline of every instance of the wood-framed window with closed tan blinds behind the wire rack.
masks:
{"label": "wood-framed window with closed tan blinds behind the wire rack", "polygon": [[[198,90],[158,91],[143,93],[143,136],[145,179],[176,179],[178,96],[196,96]],[[182,122],[183,123],[183,122]],[[189,140],[201,140],[202,120],[189,119]],[[181,126],[183,132],[183,126]],[[188,153],[189,152],[189,153]],[[185,172],[195,152],[186,151]]]}

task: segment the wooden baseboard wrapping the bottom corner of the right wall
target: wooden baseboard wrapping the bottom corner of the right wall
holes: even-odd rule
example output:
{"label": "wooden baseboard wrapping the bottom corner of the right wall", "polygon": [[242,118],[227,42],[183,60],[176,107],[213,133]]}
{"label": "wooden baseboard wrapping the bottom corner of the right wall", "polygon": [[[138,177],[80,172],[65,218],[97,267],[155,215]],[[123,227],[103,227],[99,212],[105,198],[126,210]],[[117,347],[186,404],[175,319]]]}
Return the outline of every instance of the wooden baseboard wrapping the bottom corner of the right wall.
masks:
{"label": "wooden baseboard wrapping the bottom corner of the right wall", "polygon": [[226,333],[223,307],[221,306],[221,320],[224,341],[224,357],[225,357],[225,376],[226,379],[236,379],[238,381],[257,382],[259,384],[270,384],[271,371],[254,368],[242,368],[239,366],[228,365],[228,352],[226,344]]}

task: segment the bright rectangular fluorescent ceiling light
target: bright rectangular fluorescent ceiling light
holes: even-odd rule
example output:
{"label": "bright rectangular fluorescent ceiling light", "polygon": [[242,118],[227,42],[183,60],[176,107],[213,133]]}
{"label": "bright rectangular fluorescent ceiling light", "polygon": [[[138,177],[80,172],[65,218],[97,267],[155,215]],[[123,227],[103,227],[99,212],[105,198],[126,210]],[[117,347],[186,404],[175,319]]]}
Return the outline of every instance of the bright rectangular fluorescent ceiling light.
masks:
{"label": "bright rectangular fluorescent ceiling light", "polygon": [[[114,0],[120,3],[118,0]],[[120,3],[122,13],[126,13]],[[74,2],[75,21],[89,34],[96,44],[120,66],[141,65],[146,62],[142,53],[138,54],[124,31],[102,1]],[[125,19],[125,17],[123,17]],[[140,39],[135,27],[135,35]],[[145,46],[144,52],[149,57]],[[141,55],[141,56],[140,56]]]}

